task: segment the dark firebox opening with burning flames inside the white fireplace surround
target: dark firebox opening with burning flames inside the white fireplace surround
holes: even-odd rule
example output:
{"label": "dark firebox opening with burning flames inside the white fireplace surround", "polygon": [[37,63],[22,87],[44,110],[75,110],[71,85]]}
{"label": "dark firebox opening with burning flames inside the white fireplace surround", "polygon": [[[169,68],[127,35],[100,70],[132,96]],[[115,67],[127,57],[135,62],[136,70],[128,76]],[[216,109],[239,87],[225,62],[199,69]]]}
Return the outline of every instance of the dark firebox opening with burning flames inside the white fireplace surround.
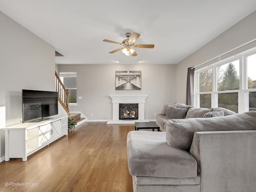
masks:
{"label": "dark firebox opening with burning flames inside the white fireplace surround", "polygon": [[138,103],[119,104],[119,120],[138,120]]}

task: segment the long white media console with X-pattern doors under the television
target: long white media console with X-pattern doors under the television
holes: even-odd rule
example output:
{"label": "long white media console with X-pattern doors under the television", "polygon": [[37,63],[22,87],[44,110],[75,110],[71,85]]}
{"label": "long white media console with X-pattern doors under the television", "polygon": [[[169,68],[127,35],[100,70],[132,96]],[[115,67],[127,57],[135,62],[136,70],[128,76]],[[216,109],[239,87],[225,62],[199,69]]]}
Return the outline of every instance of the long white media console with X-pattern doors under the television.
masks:
{"label": "long white media console with X-pattern doors under the television", "polygon": [[27,157],[58,138],[68,135],[68,116],[55,115],[41,122],[27,122],[4,128],[5,161]]}

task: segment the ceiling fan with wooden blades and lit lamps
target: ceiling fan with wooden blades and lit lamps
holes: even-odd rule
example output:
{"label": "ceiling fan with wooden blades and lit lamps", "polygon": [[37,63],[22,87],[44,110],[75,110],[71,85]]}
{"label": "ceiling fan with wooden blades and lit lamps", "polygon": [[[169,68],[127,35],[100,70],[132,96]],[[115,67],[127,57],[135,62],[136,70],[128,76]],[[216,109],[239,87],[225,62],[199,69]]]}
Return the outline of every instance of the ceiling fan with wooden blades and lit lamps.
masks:
{"label": "ceiling fan with wooden blades and lit lamps", "polygon": [[132,48],[132,47],[135,47],[135,48],[154,48],[154,46],[155,46],[153,44],[134,44],[134,42],[140,37],[140,34],[138,34],[138,33],[133,33],[132,36],[131,36],[131,33],[127,32],[127,33],[125,33],[125,36],[127,37],[127,39],[123,40],[122,43],[107,40],[107,39],[103,40],[104,42],[109,42],[109,43],[114,43],[114,44],[119,44],[119,45],[124,46],[124,47],[120,47],[116,50],[113,50],[109,53],[115,53],[117,51],[122,50],[122,52],[124,54],[126,54],[127,56],[129,56],[130,54],[132,56],[137,56],[137,53],[135,52],[134,48]]}

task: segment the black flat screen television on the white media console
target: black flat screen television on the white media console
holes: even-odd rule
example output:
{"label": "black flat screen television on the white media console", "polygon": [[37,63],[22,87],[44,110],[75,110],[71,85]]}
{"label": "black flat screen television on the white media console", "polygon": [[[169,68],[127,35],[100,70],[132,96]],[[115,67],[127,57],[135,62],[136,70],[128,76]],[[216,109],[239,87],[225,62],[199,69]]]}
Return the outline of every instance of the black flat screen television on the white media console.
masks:
{"label": "black flat screen television on the white media console", "polygon": [[58,92],[22,90],[22,122],[41,121],[58,114]]}

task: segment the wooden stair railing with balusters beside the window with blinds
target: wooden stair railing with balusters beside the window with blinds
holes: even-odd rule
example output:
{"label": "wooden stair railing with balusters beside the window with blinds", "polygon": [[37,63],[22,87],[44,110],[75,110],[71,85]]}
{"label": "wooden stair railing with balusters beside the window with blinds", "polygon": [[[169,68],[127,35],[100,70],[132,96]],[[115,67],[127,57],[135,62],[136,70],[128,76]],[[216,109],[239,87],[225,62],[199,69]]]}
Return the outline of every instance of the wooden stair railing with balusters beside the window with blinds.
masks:
{"label": "wooden stair railing with balusters beside the window with blinds", "polygon": [[63,106],[63,108],[66,110],[66,112],[69,114],[69,108],[68,108],[68,89],[65,88],[64,84],[61,82],[60,77],[58,76],[57,72],[55,71],[55,82],[56,82],[56,92],[58,92],[58,101]]}

